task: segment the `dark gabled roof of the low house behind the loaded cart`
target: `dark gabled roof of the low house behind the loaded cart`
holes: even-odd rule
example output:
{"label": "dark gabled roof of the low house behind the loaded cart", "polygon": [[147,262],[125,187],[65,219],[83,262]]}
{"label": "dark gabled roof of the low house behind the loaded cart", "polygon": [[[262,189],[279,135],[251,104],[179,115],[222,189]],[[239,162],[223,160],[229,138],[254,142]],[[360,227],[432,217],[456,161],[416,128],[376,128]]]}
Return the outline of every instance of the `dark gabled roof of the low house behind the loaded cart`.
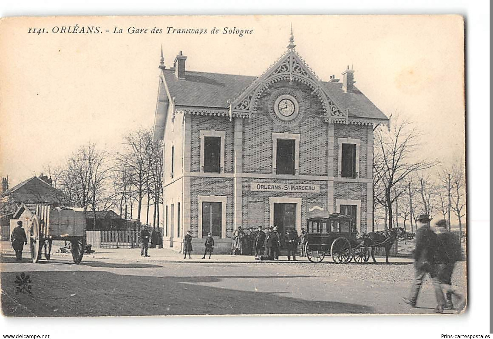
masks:
{"label": "dark gabled roof of the low house behind the loaded cart", "polygon": [[15,202],[20,203],[60,203],[66,201],[65,194],[45,183],[38,177],[24,180],[20,184],[4,191],[2,197],[9,196]]}

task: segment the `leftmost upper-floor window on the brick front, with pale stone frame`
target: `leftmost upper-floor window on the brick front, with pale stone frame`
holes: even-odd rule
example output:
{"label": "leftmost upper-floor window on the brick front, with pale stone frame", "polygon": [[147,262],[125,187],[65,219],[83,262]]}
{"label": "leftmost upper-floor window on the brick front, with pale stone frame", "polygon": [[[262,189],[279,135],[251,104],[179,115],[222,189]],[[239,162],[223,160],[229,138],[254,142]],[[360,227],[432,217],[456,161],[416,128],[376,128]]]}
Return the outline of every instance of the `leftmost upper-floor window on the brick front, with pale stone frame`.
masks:
{"label": "leftmost upper-floor window on the brick front, with pale stone frame", "polygon": [[200,131],[200,171],[224,173],[224,131]]}

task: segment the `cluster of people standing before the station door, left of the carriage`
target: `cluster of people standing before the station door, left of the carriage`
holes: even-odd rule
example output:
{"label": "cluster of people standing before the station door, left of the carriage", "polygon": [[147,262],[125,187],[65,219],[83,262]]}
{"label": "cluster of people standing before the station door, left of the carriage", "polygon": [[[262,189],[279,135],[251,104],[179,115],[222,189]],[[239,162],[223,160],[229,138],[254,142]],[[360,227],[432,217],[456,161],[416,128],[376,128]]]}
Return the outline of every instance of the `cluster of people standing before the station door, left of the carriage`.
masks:
{"label": "cluster of people standing before the station door, left of the carriage", "polygon": [[232,255],[254,255],[256,260],[279,260],[279,251],[284,244],[287,250],[287,260],[296,261],[298,245],[301,245],[301,256],[304,256],[305,230],[301,235],[295,229],[288,229],[284,236],[279,234],[277,226],[269,227],[265,232],[262,226],[253,231],[250,227],[244,231],[239,226],[233,233]]}

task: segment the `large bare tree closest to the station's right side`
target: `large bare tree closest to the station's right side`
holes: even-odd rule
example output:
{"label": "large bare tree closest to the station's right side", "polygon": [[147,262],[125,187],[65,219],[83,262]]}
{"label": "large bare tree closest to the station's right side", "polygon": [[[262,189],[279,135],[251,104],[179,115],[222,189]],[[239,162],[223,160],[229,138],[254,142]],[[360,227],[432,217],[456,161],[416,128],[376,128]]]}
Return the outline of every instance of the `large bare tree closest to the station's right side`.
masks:
{"label": "large bare tree closest to the station's right side", "polygon": [[381,157],[381,161],[374,164],[374,176],[380,177],[384,187],[383,195],[377,196],[377,199],[387,207],[389,228],[392,228],[393,204],[398,198],[394,194],[394,186],[404,182],[411,173],[430,168],[437,163],[413,160],[419,146],[419,137],[416,128],[407,120],[396,121],[392,128],[380,128],[375,133],[374,152],[378,154],[377,159]]}

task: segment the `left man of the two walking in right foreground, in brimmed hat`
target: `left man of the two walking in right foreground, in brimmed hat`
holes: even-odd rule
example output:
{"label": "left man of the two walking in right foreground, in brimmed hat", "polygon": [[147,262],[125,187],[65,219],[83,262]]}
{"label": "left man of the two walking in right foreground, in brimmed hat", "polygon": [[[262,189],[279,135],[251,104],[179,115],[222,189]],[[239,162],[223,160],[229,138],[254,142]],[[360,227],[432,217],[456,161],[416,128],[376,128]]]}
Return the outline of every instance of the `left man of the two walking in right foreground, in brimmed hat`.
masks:
{"label": "left man of the two walking in right foreground, in brimmed hat", "polygon": [[[440,287],[440,281],[435,276],[435,249],[437,246],[437,238],[435,232],[431,230],[429,226],[430,218],[427,214],[420,214],[416,219],[416,246],[414,249],[414,282],[411,287],[409,298],[402,298],[402,300],[411,305],[416,306],[418,295],[420,293],[421,284],[423,283],[424,276],[428,273],[431,276],[433,285],[435,287],[435,297],[438,305],[444,303],[443,292]],[[440,311],[437,309],[437,311]]]}

